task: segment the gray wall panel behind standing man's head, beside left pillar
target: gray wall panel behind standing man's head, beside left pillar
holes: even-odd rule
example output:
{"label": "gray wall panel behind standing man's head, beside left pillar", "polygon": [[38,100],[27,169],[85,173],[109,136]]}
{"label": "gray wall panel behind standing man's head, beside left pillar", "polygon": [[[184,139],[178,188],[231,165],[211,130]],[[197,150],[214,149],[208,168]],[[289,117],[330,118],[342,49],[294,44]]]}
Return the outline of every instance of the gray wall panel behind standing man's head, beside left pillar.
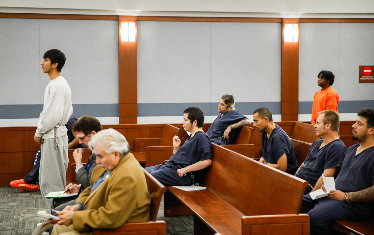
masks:
{"label": "gray wall panel behind standing man's head, beside left pillar", "polygon": [[[118,103],[117,21],[42,19],[40,35],[40,58],[52,48],[65,53],[73,103]],[[41,103],[48,80],[41,75]]]}

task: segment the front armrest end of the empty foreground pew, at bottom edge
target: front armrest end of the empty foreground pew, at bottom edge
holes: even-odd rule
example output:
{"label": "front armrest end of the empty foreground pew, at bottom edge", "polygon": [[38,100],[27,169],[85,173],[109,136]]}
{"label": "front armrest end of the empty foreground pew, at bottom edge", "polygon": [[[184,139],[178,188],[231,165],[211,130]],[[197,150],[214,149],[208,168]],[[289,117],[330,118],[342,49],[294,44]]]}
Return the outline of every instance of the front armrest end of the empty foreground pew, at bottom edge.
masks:
{"label": "front armrest end of the empty foreground pew, at bottom edge", "polygon": [[307,235],[310,233],[309,215],[307,214],[279,214],[263,216],[243,216],[242,234],[261,235],[287,234]]}

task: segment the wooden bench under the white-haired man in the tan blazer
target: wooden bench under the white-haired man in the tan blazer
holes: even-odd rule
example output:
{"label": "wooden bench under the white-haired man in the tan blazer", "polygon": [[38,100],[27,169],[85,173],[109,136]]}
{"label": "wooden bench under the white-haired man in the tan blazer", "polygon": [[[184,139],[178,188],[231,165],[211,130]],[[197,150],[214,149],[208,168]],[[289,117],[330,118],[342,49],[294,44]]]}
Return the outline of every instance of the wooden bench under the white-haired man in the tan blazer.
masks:
{"label": "wooden bench under the white-haired man in the tan blazer", "polygon": [[[151,195],[150,217],[148,222],[125,223],[116,229],[93,229],[94,235],[102,234],[147,234],[166,235],[166,223],[163,220],[156,220],[159,211],[162,195],[166,188],[150,173],[144,170],[145,180],[147,180],[148,192]],[[126,208],[124,208],[126,210]]]}

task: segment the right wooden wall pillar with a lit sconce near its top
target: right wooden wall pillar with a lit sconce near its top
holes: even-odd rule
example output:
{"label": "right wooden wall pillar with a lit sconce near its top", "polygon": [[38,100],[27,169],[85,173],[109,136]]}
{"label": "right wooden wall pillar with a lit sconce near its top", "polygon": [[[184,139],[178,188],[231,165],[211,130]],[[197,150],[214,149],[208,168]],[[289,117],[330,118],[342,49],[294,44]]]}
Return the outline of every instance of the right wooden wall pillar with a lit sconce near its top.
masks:
{"label": "right wooden wall pillar with a lit sconce near its top", "polygon": [[286,23],[298,25],[299,19],[284,18],[282,20],[281,121],[298,121],[299,40],[285,43]]}

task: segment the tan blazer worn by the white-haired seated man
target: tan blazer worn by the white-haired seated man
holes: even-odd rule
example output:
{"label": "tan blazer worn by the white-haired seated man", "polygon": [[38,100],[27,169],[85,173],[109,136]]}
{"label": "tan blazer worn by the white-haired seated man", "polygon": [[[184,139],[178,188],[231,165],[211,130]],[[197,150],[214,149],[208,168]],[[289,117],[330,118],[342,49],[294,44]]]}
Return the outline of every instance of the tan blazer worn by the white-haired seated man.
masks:
{"label": "tan blazer worn by the white-haired seated man", "polygon": [[104,173],[104,168],[96,166],[91,186],[79,195],[77,203],[82,203],[85,210],[74,213],[74,230],[85,232],[148,221],[151,197],[144,172],[134,155],[123,156],[109,177],[90,193],[93,183]]}

